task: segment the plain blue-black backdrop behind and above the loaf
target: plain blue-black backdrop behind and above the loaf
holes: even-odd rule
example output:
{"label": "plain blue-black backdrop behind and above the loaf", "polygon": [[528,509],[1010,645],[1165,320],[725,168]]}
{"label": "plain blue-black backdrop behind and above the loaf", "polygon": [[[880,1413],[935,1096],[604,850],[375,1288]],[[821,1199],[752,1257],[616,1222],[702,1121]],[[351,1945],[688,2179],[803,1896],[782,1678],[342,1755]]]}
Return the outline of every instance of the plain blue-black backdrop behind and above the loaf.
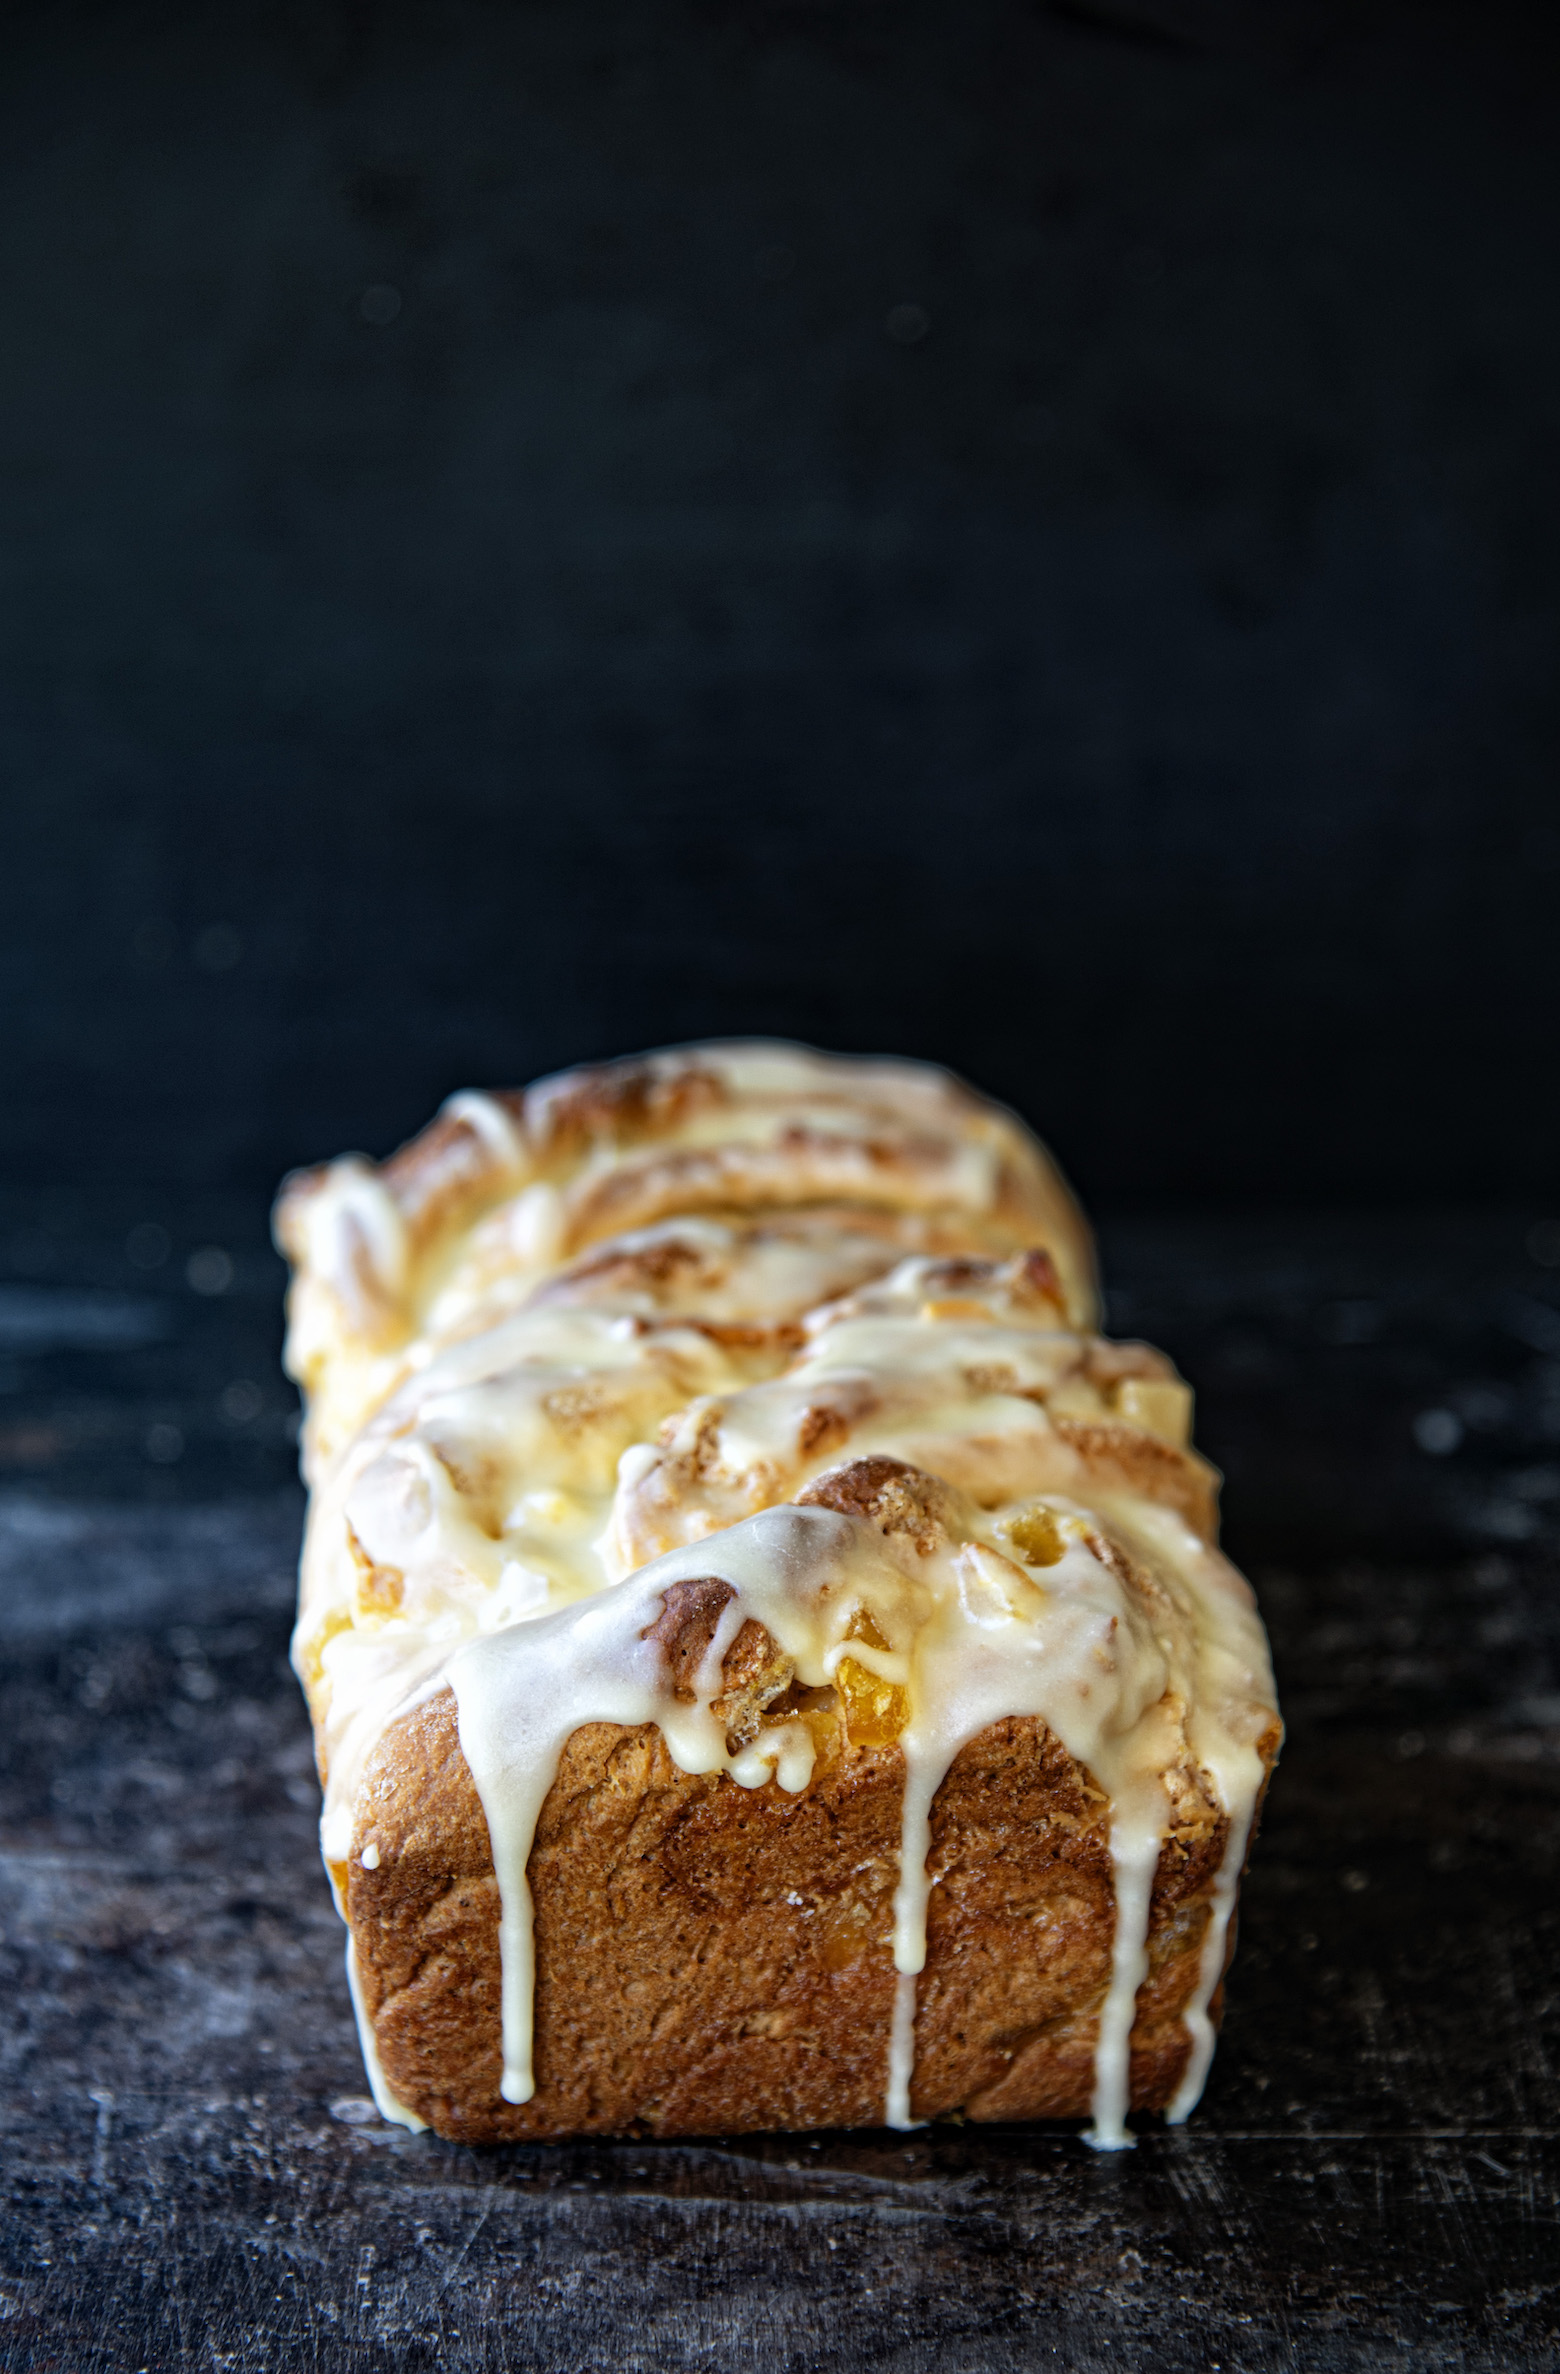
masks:
{"label": "plain blue-black backdrop behind and above the loaf", "polygon": [[0,1173],[259,1194],[779,1030],[1116,1208],[1543,1199],[1553,66],[1501,0],[5,9]]}

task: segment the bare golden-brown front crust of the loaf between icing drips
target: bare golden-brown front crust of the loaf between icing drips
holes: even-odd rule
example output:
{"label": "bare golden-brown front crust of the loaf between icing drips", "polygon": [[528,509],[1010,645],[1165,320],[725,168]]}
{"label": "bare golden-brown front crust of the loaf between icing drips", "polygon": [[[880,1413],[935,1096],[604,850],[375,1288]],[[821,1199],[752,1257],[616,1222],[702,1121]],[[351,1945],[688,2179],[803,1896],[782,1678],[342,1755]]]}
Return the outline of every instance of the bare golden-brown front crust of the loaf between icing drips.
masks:
{"label": "bare golden-brown front crust of the loaf between icing drips", "polygon": [[[710,1610],[691,1598],[681,1614],[684,1655],[703,1655]],[[370,1762],[347,1885],[389,2084],[461,2141],[876,2122],[900,1792],[898,1747],[843,1735],[791,1797],[679,1771],[655,1726],[582,1726],[529,1859],[537,2094],[513,2106],[499,2096],[499,1885],[439,1693]],[[1228,1837],[1199,1790],[1182,1816],[1154,1880],[1140,2110],[1163,2108],[1185,2068],[1180,2013]],[[917,2115],[1085,2115],[1114,1937],[1104,1795],[1042,1724],[1014,1716],[962,1750],[931,1818]]]}

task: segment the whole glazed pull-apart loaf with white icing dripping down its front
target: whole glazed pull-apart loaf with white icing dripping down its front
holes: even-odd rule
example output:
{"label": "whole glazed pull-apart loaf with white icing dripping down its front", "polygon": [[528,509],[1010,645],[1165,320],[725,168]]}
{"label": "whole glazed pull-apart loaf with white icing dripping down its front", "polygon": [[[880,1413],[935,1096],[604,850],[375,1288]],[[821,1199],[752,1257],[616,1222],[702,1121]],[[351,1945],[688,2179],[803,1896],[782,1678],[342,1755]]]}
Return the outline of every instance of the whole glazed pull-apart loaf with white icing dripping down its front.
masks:
{"label": "whole glazed pull-apart loaf with white icing dripping down its front", "polygon": [[1180,2120],[1280,1721],[1161,1353],[947,1073],[710,1045],[294,1175],[294,1662],[380,2110]]}

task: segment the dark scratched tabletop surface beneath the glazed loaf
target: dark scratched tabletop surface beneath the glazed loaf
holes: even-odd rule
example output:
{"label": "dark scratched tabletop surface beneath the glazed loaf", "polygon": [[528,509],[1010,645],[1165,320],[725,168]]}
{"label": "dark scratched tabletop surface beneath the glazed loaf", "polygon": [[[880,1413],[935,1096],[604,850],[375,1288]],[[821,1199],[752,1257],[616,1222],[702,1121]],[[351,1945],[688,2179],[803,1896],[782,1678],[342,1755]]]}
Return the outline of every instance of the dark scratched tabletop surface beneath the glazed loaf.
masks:
{"label": "dark scratched tabletop surface beneath the glazed loaf", "polygon": [[463,2151],[363,2101],[252,1206],[0,1206],[0,2365],[1560,2362],[1560,1230],[1106,1232],[1289,1747],[1192,2125]]}

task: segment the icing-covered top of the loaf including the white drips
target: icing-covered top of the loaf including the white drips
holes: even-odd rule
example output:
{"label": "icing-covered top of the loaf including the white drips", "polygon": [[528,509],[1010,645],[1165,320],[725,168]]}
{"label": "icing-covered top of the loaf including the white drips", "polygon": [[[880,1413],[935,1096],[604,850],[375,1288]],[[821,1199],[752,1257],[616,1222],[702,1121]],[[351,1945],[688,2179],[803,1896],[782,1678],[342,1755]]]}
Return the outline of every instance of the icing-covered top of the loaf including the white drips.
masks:
{"label": "icing-covered top of the loaf including the white drips", "polygon": [[[985,1724],[1042,1716],[1109,1790],[1128,1930],[1178,1792],[1223,1804],[1239,1871],[1275,1726],[1261,1624],[1213,1545],[1190,1394],[1095,1332],[1087,1230],[1012,1113],[917,1064],[674,1049],[456,1097],[382,1168],[294,1178],[278,1242],[325,1859],[340,1883],[387,1724],[451,1683],[503,1890],[511,2099],[525,1859],[586,1721],[655,1721],[684,1769],[800,1790],[819,1693],[857,1693],[907,1764],[905,2051],[917,1842]],[[712,1614],[681,1671],[658,1643],[689,1593]],[[1204,2027],[1216,1978],[1211,1944]]]}

